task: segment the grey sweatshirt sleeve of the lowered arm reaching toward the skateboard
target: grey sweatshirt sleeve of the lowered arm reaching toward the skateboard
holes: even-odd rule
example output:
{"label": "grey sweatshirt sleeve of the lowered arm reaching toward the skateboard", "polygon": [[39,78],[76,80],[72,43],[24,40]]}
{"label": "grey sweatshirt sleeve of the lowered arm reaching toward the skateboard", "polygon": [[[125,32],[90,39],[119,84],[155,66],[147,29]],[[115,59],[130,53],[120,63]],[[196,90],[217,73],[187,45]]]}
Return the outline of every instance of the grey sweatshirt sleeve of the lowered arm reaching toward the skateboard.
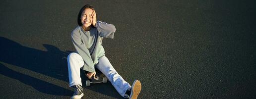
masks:
{"label": "grey sweatshirt sleeve of the lowered arm reaching toward the skateboard", "polygon": [[76,51],[78,52],[79,55],[81,55],[81,57],[84,60],[84,69],[86,71],[89,72],[95,72],[95,68],[94,68],[94,64],[90,55],[89,50],[86,48],[86,46],[84,45],[80,33],[75,33],[74,31],[71,33],[71,38],[72,38],[72,42],[73,45],[76,49]]}

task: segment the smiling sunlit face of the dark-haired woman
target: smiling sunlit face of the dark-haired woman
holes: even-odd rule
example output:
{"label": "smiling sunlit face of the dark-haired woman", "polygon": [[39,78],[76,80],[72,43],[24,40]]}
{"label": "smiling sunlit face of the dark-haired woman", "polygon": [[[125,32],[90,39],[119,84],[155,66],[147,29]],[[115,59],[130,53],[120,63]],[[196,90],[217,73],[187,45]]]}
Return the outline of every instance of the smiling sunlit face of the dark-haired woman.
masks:
{"label": "smiling sunlit face of the dark-haired woman", "polygon": [[86,8],[81,14],[81,23],[84,28],[88,28],[92,24],[92,9]]}

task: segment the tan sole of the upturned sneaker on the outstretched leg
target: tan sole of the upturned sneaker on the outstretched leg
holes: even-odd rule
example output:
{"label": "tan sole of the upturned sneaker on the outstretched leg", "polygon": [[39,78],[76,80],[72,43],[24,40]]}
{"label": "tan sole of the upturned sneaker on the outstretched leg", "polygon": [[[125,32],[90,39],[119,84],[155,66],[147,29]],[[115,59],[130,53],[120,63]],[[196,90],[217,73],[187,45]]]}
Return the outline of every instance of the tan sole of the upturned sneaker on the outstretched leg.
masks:
{"label": "tan sole of the upturned sneaker on the outstretched leg", "polygon": [[135,80],[131,87],[131,93],[129,99],[137,99],[141,91],[141,83],[138,80]]}

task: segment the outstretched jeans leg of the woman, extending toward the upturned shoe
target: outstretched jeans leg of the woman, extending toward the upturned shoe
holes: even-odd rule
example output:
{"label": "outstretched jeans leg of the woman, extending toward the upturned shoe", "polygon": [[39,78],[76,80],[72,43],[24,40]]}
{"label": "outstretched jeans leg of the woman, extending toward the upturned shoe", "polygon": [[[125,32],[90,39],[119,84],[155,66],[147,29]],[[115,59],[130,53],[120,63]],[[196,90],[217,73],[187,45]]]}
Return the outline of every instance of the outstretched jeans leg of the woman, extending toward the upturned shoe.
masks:
{"label": "outstretched jeans leg of the woman, extending toward the upturned shoe", "polygon": [[126,91],[131,86],[118,74],[118,72],[113,68],[109,59],[103,56],[99,59],[99,63],[95,66],[98,68],[115,87],[121,96],[125,96]]}

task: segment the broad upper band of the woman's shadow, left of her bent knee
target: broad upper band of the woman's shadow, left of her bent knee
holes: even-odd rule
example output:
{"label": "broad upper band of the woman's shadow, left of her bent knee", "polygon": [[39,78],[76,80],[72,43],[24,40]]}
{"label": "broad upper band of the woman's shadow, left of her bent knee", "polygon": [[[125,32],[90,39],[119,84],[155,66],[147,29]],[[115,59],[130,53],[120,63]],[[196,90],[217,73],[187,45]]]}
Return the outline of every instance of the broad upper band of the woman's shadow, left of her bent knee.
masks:
{"label": "broad upper band of the woman's shadow, left of her bent knee", "polygon": [[24,47],[0,37],[0,61],[68,82],[67,52],[43,45],[47,51]]}

